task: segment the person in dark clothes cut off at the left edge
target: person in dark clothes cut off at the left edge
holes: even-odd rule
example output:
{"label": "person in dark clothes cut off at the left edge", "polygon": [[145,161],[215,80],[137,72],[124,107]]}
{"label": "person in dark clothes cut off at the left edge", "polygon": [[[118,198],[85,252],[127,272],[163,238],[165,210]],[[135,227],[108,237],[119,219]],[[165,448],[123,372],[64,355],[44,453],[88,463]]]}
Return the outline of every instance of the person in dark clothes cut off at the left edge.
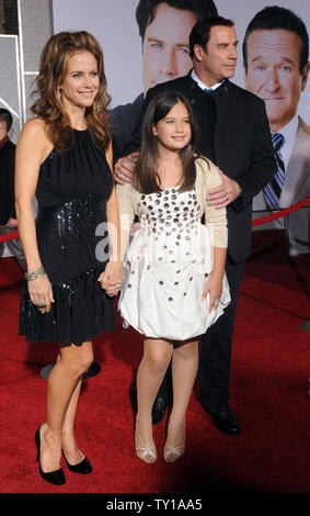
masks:
{"label": "person in dark clothes cut off at the left edge", "polygon": [[[8,110],[0,109],[0,235],[5,235],[18,227],[15,213],[14,173],[15,145],[8,133],[12,126],[12,115]],[[26,262],[20,238],[8,240],[8,248],[14,255],[20,266],[26,270]],[[4,245],[0,244],[0,255]]]}

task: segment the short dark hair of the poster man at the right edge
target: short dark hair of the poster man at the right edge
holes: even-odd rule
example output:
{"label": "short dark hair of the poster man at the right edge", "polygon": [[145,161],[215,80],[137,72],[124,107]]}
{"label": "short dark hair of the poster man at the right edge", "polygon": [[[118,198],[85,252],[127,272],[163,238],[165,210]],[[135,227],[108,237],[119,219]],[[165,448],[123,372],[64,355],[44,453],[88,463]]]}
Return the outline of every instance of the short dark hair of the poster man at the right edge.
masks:
{"label": "short dark hair of the poster man at the right edge", "polygon": [[286,8],[279,8],[277,5],[267,7],[262,11],[257,12],[253,20],[249,23],[243,44],[243,63],[245,72],[248,74],[248,49],[246,44],[250,34],[254,31],[272,31],[273,29],[283,29],[285,31],[294,32],[300,37],[301,41],[301,51],[299,58],[299,70],[302,74],[305,66],[308,63],[309,57],[309,35],[306,29],[306,25],[301,18],[299,18],[295,12]]}

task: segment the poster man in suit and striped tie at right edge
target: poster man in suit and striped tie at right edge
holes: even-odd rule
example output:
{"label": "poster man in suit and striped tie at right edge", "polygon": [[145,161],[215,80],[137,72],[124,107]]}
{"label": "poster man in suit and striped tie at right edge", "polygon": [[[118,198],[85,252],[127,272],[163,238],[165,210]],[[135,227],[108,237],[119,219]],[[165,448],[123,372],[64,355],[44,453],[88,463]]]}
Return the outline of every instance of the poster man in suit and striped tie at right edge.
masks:
{"label": "poster man in suit and striped tie at right edge", "polygon": [[[279,7],[260,11],[246,32],[243,43],[245,88],[265,101],[271,131],[279,133],[282,138],[275,139],[280,142],[280,147],[276,148],[279,170],[275,176],[279,189],[278,195],[273,198],[277,202],[271,203],[271,192],[276,191],[273,183],[253,199],[254,212],[269,212],[273,207],[294,205],[309,195],[310,127],[297,116],[309,74],[308,33],[300,18]],[[262,229],[285,229],[289,254],[307,254],[310,250],[309,213],[297,211],[286,218],[264,224]],[[254,218],[257,217],[254,213]]]}

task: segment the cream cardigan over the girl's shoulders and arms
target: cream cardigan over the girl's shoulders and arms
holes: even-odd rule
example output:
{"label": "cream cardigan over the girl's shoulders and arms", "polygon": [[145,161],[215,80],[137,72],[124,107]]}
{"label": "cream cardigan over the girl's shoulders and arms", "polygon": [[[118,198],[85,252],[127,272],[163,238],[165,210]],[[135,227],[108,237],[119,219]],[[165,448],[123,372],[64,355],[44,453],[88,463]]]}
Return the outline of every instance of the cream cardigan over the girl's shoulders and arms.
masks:
{"label": "cream cardigan over the girl's shoulders and arms", "polygon": [[[196,180],[194,188],[200,212],[205,214],[205,224],[209,228],[211,245],[226,248],[228,243],[226,209],[216,210],[207,202],[207,192],[211,188],[221,184],[221,177],[217,167],[206,158],[197,158],[195,166]],[[117,184],[116,193],[122,234],[124,236],[125,233],[128,236],[135,215],[137,215],[137,206],[141,194],[130,183]]]}

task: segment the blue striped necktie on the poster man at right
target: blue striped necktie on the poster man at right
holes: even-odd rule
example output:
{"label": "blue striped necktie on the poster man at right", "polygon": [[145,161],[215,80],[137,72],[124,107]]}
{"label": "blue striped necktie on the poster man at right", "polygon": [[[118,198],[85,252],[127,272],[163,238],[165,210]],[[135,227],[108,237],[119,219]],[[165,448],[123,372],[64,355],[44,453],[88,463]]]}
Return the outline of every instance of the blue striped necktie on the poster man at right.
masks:
{"label": "blue striped necktie on the poster man at right", "polygon": [[274,133],[272,135],[272,139],[275,149],[277,171],[273,177],[273,180],[264,188],[264,195],[268,206],[272,210],[276,210],[278,207],[280,192],[285,180],[285,166],[279,150],[285,143],[285,137],[280,133]]}

